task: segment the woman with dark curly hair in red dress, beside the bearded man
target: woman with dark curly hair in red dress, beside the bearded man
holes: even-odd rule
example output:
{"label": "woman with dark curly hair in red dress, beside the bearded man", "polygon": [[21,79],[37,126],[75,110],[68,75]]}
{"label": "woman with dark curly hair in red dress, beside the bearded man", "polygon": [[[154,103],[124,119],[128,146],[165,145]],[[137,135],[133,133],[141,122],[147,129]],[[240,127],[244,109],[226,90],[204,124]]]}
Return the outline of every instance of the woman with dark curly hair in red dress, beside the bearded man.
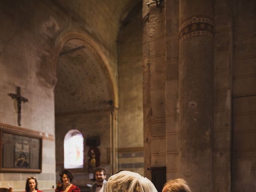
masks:
{"label": "woman with dark curly hair in red dress, beside the bearded man", "polygon": [[70,183],[73,178],[74,177],[68,170],[63,170],[60,173],[60,181],[62,182],[62,185],[58,186],[55,189],[55,192],[80,192],[80,189],[77,186]]}

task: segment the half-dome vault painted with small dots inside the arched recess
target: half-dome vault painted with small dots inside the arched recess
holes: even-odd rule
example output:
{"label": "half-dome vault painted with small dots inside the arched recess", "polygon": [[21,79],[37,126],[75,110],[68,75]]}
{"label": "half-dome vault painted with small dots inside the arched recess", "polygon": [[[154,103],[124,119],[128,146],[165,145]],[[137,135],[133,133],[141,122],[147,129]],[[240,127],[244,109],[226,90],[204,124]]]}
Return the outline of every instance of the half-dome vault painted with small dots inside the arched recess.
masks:
{"label": "half-dome vault painted with small dots inside the arched recess", "polygon": [[55,87],[55,112],[110,108],[111,81],[93,48],[81,40],[68,41],[60,53]]}

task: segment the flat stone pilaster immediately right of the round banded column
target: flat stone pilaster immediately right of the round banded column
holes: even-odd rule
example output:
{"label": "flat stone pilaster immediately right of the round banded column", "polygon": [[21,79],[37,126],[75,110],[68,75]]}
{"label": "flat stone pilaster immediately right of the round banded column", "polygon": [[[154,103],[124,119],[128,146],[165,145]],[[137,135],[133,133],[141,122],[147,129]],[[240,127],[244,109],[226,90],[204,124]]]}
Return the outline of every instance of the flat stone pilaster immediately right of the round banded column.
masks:
{"label": "flat stone pilaster immediately right of the round banded column", "polygon": [[232,1],[214,5],[214,192],[231,191]]}

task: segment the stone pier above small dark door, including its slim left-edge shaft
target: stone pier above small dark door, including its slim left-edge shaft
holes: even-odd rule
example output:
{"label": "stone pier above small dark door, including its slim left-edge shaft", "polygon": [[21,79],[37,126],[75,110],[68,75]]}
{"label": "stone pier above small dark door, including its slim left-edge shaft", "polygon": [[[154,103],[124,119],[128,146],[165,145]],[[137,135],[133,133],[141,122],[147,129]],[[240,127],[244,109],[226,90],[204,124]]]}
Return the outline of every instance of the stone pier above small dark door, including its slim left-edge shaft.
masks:
{"label": "stone pier above small dark door, including its slim left-edge shaft", "polygon": [[144,0],[143,115],[145,176],[150,167],[166,166],[164,9]]}

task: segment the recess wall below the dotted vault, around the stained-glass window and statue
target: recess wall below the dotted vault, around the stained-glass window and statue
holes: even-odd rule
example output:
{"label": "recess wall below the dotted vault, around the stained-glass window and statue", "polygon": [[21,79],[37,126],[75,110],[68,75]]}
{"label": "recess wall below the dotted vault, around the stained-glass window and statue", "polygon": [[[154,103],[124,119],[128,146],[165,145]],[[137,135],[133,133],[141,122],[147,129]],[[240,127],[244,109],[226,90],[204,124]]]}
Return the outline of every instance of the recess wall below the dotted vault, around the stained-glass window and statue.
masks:
{"label": "recess wall below the dotted vault, around the stained-glass window and statue", "polygon": [[[84,142],[88,136],[100,137],[100,164],[106,168],[110,175],[110,112],[91,112],[85,114],[69,114],[56,116],[56,181],[60,180],[59,174],[64,169],[64,137],[69,130],[76,129],[84,136]],[[57,146],[58,145],[58,146]],[[84,167],[70,169],[74,175],[74,184],[85,186],[92,183],[88,173],[88,150],[84,144]]]}

